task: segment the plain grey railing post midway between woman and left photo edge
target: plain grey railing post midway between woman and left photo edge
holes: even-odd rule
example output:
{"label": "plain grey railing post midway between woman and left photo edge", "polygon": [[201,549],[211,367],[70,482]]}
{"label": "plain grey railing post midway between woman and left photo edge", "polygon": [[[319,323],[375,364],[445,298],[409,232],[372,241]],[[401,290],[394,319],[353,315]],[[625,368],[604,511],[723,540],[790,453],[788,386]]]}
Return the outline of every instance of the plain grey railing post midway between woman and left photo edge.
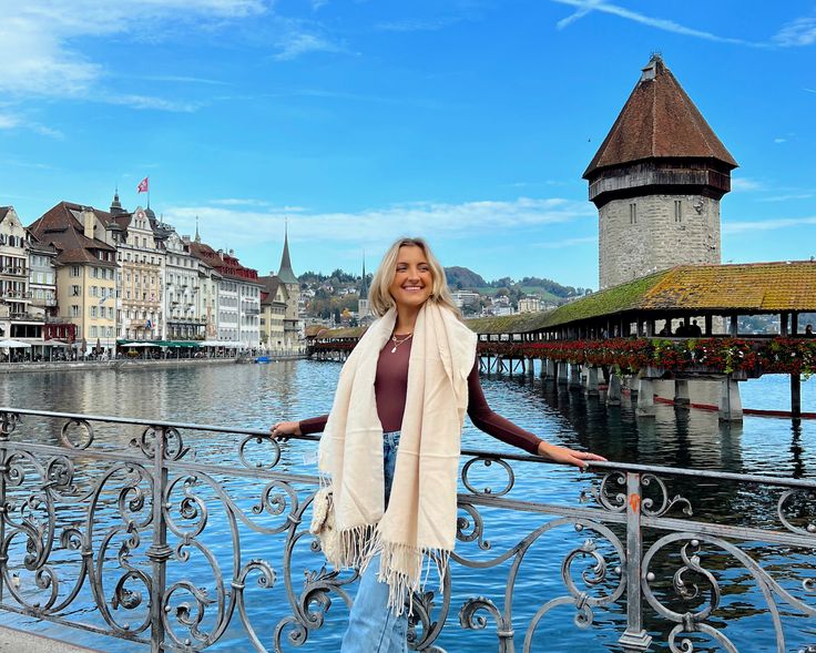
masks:
{"label": "plain grey railing post midway between woman and left photo edge", "polygon": [[166,563],[173,551],[167,545],[167,523],[164,521],[164,494],[167,489],[167,466],[165,465],[165,449],[167,445],[167,429],[155,427],[155,448],[153,452],[153,543],[146,555],[153,567],[153,582],[150,598],[150,650],[151,653],[161,653],[164,644],[164,621],[162,619],[162,603],[166,585]]}

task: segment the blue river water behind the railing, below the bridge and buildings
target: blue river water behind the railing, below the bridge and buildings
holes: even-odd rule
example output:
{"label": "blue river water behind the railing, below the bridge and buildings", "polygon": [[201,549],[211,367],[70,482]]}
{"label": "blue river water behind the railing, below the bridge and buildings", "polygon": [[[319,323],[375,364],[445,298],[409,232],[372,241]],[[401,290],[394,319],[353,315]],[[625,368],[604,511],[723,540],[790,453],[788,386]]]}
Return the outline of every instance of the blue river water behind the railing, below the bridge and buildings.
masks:
{"label": "blue river water behind the railing, below the bridge and buildings", "polygon": [[[332,392],[337,380],[339,365],[334,363],[287,361],[272,365],[200,366],[183,369],[100,370],[99,373],[38,373],[2,377],[0,406],[23,407],[91,415],[210,424],[235,428],[267,428],[283,418],[305,418],[327,412]],[[490,405],[501,415],[513,420],[548,440],[582,449],[591,449],[613,460],[643,462],[670,467],[726,470],[744,473],[763,473],[783,477],[814,478],[816,469],[816,420],[804,420],[793,425],[790,420],[746,417],[742,425],[724,426],[717,422],[716,414],[705,411],[676,411],[671,406],[657,406],[655,419],[636,419],[631,405],[624,399],[620,408],[608,409],[596,399],[584,398],[580,392],[558,390],[551,384],[538,379],[530,384],[520,378],[483,378],[482,386]],[[741,385],[743,405],[751,408],[789,408],[787,377],[765,377]],[[803,410],[816,411],[816,382],[803,382]],[[130,427],[105,427],[98,429],[101,447],[124,448],[137,436],[140,429]],[[47,420],[28,418],[19,429],[19,436],[40,442],[57,442],[57,429]],[[236,448],[241,437],[230,433],[185,435],[200,462],[237,465]],[[466,425],[463,446],[491,451],[511,451],[509,447]],[[95,445],[94,445],[95,446]],[[314,445],[290,442],[285,447],[280,469],[295,473],[314,475],[312,462]],[[263,456],[263,452],[257,452]],[[589,476],[567,468],[520,462],[513,465],[517,482],[510,497],[542,502],[578,504],[582,489],[590,484]],[[89,461],[82,472],[90,482],[104,466]],[[484,482],[502,484],[502,476],[496,469],[486,470]],[[82,476],[81,475],[81,476]],[[492,475],[492,476],[491,476]],[[261,488],[255,481],[224,477],[217,479],[234,501],[251,508],[257,502]],[[713,483],[677,482],[672,493],[680,492],[692,501],[695,518],[721,522],[740,523],[745,520],[765,524],[775,517],[775,499],[756,488],[736,488]],[[178,492],[181,496],[181,490]],[[232,531],[225,511],[217,509],[217,497],[206,488],[201,494],[210,501],[211,513],[207,527],[200,540],[218,560],[222,572],[230,578],[233,570]],[[105,519],[115,523],[116,516],[109,511]],[[499,509],[484,509],[486,537],[490,549],[482,551],[475,543],[458,544],[457,551],[476,563],[488,561],[513,547],[521,538],[547,523],[550,518],[534,513],[509,513]],[[70,518],[70,514],[62,516]],[[80,514],[74,516],[80,519]],[[285,516],[284,516],[285,517]],[[271,516],[261,516],[264,526],[274,528],[280,523]],[[526,624],[532,614],[550,599],[564,595],[561,563],[564,555],[580,545],[588,534],[573,529],[553,529],[544,533],[531,547],[521,565],[514,592],[514,626],[517,650],[522,649]],[[178,538],[170,533],[171,543]],[[611,548],[603,542],[601,550],[613,557]],[[253,558],[268,560],[277,574],[272,589],[249,588],[247,582],[246,608],[264,645],[273,649],[275,629],[283,623],[290,608],[284,591],[286,570],[282,568],[280,535],[264,535],[251,529],[241,531],[241,551],[244,562]],[[605,547],[605,549],[604,549]],[[303,586],[304,573],[319,569],[317,558],[307,542],[292,557],[293,570],[288,577],[293,588]],[[116,549],[111,549],[115,557]],[[786,558],[785,551],[763,549],[763,564],[785,569],[783,574],[795,588],[796,570],[812,564],[813,560]],[[144,558],[142,558],[144,559]],[[612,559],[612,558],[611,558]],[[710,559],[711,560],[711,559]],[[70,555],[64,564],[70,568]],[[716,560],[713,561],[715,563]],[[115,567],[115,565],[111,565]],[[472,567],[472,565],[471,565]],[[581,568],[583,569],[583,568]],[[744,569],[721,570],[724,580],[753,586]],[[150,573],[150,569],[145,570]],[[462,598],[486,595],[498,605],[503,602],[507,565],[490,570],[455,565],[453,600],[446,630],[437,644],[449,652],[491,651],[497,647],[496,628],[488,618],[486,631],[467,631],[458,626],[458,611]],[[192,551],[190,560],[169,564],[169,578],[194,579],[196,585],[212,589],[212,562],[203,550]],[[255,574],[254,578],[256,578]],[[671,577],[670,577],[671,578]],[[798,577],[803,578],[802,575]],[[299,584],[298,584],[299,583]],[[605,582],[601,589],[614,583]],[[799,583],[800,584],[800,583]],[[786,586],[787,586],[786,585]],[[135,585],[134,585],[135,588]],[[354,588],[351,588],[354,591]],[[792,591],[794,591],[792,589]],[[112,588],[105,586],[110,600]],[[182,592],[180,592],[181,594]],[[188,596],[187,596],[188,598]],[[771,618],[766,611],[757,611],[751,604],[764,602],[755,589],[730,592],[723,596],[722,610],[727,619],[724,632],[732,637],[741,651],[775,650]],[[813,605],[813,598],[809,604]],[[80,602],[73,604],[72,619],[102,625],[99,614]],[[121,609],[120,609],[121,611]],[[288,612],[287,612],[288,611]],[[137,610],[133,611],[134,613]],[[653,651],[667,651],[667,622],[649,616],[646,626],[655,641]],[[484,613],[482,613],[484,614]],[[309,634],[303,646],[286,644],[285,651],[335,651],[347,616],[345,605],[335,599],[324,629]],[[551,612],[537,630],[534,651],[558,652],[583,650],[588,652],[620,651],[616,640],[625,623],[620,606],[594,611],[594,623],[589,629],[578,629],[573,623],[574,608],[559,608]],[[137,623],[139,620],[132,620]],[[237,621],[237,620],[236,620]],[[783,614],[787,651],[798,651],[816,643],[816,630],[802,618]],[[2,623],[18,628],[37,629],[53,636],[67,639],[112,651],[144,651],[143,646],[119,640],[101,640],[90,633],[65,630],[13,614],[2,614]],[[206,619],[203,628],[206,626]],[[245,634],[231,629],[211,650],[252,651]],[[718,651],[703,641],[695,642],[695,651]]]}

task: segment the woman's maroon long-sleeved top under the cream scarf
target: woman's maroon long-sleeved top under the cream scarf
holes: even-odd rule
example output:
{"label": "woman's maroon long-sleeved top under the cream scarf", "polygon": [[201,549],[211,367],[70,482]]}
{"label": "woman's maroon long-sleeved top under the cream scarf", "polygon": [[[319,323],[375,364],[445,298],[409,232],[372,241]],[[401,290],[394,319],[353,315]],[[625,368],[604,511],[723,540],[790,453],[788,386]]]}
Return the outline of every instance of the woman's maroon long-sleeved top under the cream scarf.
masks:
{"label": "woman's maroon long-sleeved top under the cream scarf", "polygon": [[[386,432],[398,431],[402,425],[410,348],[411,341],[407,340],[391,353],[394,343],[388,340],[379,353],[374,391],[377,399],[377,415]],[[479,382],[478,360],[473,363],[473,369],[468,375],[468,416],[479,430],[502,442],[523,449],[528,453],[538,453],[541,442],[539,437],[501,417],[488,405]],[[304,419],[300,421],[300,431],[303,433],[322,432],[326,428],[327,420],[328,415]]]}

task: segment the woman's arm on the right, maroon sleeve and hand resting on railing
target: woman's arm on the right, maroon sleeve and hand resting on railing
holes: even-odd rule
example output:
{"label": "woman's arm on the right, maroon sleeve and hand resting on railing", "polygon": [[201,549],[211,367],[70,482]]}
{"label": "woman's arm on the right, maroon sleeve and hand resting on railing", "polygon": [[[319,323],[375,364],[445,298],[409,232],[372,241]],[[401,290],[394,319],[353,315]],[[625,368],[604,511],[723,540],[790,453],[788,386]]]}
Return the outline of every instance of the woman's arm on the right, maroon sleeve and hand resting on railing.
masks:
{"label": "woman's arm on the right, maroon sleeve and hand resting on railing", "polygon": [[596,453],[550,445],[493,411],[488,405],[487,399],[484,399],[484,392],[479,382],[478,360],[473,365],[473,369],[470,370],[470,375],[468,375],[468,416],[473,422],[473,426],[479,430],[493,436],[502,442],[523,449],[528,453],[543,456],[554,462],[584,468],[588,465],[588,460],[605,460],[605,458]]}

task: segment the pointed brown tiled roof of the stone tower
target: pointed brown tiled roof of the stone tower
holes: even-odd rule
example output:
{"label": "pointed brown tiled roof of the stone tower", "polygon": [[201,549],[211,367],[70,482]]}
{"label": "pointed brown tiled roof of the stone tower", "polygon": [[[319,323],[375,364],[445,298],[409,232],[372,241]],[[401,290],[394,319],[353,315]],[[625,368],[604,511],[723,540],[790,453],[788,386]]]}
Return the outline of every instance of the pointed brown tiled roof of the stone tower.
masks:
{"label": "pointed brown tiled roof of the stone tower", "polygon": [[644,159],[736,161],[705,122],[672,72],[655,54],[592,159],[584,178],[596,170]]}

